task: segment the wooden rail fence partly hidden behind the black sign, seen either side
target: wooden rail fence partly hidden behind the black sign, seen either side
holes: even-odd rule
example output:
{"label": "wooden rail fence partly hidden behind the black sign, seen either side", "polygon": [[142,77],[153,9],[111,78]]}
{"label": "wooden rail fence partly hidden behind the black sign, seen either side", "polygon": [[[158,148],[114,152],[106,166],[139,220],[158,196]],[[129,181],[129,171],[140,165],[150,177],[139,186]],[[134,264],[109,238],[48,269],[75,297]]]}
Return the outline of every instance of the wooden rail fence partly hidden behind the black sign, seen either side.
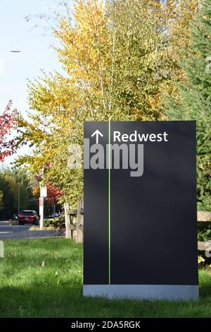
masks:
{"label": "wooden rail fence partly hidden behind the black sign, seen either side", "polygon": [[[74,223],[74,220],[77,220]],[[211,212],[198,211],[198,222],[211,222]],[[65,237],[74,238],[76,242],[83,242],[84,240],[84,202],[79,201],[77,209],[71,209],[68,203],[65,203]],[[198,241],[198,250],[211,251],[211,242]]]}

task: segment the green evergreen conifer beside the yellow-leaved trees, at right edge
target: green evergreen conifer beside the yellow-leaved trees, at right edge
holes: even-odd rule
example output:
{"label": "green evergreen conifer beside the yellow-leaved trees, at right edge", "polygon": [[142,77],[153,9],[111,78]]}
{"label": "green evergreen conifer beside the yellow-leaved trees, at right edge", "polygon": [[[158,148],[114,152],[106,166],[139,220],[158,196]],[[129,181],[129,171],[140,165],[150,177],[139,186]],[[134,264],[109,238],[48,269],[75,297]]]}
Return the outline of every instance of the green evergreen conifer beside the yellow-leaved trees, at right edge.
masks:
{"label": "green evergreen conifer beside the yellow-leaved trees, at right edge", "polygon": [[198,209],[211,209],[211,1],[203,0],[191,23],[191,48],[181,64],[186,81],[179,97],[167,97],[170,119],[195,120],[197,124]]}

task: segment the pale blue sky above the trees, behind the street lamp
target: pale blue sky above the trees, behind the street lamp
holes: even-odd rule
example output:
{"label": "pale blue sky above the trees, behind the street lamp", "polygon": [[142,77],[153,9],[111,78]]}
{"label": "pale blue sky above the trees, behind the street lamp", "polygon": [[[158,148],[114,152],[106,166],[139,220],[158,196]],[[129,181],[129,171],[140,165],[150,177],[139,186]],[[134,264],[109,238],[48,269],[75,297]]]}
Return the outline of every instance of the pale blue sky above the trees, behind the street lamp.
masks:
{"label": "pale blue sky above the trees, behind the street lamp", "polygon": [[[55,8],[54,0],[0,0],[0,113],[8,100],[13,100],[13,108],[25,115],[27,78],[37,78],[40,69],[61,71],[51,48],[56,40],[51,30],[46,30],[49,24],[39,18],[43,13],[53,15]],[[11,52],[16,49],[21,52]],[[13,159],[8,158],[5,164]]]}

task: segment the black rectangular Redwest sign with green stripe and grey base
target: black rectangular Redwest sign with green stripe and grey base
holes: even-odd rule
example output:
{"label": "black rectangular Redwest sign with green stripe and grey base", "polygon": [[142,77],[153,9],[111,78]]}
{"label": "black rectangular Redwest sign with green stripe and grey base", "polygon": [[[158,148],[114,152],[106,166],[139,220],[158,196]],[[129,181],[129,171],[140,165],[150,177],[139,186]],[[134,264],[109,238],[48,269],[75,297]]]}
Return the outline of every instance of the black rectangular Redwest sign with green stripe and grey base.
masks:
{"label": "black rectangular Redwest sign with green stripe and grey base", "polygon": [[84,124],[84,295],[198,298],[196,122]]}

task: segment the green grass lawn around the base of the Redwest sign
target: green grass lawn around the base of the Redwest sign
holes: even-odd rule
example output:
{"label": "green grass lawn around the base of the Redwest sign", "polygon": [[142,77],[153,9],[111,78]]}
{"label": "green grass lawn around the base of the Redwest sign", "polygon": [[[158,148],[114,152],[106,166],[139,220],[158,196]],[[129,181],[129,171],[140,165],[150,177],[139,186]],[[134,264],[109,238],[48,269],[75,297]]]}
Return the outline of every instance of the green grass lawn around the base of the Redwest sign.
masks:
{"label": "green grass lawn around the base of the Redwest sign", "polygon": [[[197,302],[82,296],[82,245],[67,239],[4,241],[0,317],[210,317],[211,276],[200,271]],[[43,263],[44,262],[44,263]]]}

